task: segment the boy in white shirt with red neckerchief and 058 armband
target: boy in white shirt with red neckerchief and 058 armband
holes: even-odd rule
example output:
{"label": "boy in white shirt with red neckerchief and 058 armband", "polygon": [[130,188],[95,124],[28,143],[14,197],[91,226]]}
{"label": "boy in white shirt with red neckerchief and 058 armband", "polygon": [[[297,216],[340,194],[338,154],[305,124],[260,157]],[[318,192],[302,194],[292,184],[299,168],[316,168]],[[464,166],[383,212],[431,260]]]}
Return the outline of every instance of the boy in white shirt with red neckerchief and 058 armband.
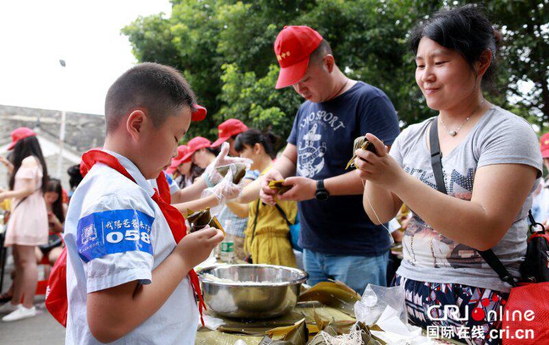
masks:
{"label": "boy in white shirt with red neckerchief and 058 armband", "polygon": [[138,64],[110,86],[104,150],[84,154],[90,170],[65,223],[67,344],[194,344],[192,268],[223,235],[185,236],[183,216],[147,182],[175,156],[194,103],[180,73],[161,64]]}

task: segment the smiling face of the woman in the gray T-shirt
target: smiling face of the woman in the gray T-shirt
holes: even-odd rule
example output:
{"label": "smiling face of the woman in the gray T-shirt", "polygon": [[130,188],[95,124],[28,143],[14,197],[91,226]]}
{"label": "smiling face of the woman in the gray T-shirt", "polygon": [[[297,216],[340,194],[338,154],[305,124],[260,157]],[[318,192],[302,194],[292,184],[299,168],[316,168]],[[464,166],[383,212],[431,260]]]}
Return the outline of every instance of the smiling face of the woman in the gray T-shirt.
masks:
{"label": "smiling face of the woman in the gray T-shirt", "polygon": [[463,56],[430,38],[421,38],[415,60],[416,82],[431,109],[460,108],[476,86],[480,87],[481,78],[475,80]]}

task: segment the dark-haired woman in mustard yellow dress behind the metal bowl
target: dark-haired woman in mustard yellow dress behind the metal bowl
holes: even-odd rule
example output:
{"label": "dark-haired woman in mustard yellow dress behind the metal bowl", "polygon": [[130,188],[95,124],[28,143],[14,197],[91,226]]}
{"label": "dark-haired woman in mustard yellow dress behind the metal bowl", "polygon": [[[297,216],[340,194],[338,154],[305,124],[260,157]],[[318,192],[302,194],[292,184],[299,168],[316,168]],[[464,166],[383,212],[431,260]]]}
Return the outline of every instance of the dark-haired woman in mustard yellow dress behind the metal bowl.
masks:
{"label": "dark-haired woman in mustard yellow dress behind the metal bowl", "polygon": [[[237,136],[235,150],[253,161],[250,170],[261,171],[263,175],[272,167],[278,143],[278,136],[252,128]],[[237,216],[248,217],[244,251],[250,254],[253,263],[296,267],[289,226],[296,220],[297,204],[281,200],[274,205],[263,204],[259,200],[259,182],[251,182],[236,202],[227,203]]]}

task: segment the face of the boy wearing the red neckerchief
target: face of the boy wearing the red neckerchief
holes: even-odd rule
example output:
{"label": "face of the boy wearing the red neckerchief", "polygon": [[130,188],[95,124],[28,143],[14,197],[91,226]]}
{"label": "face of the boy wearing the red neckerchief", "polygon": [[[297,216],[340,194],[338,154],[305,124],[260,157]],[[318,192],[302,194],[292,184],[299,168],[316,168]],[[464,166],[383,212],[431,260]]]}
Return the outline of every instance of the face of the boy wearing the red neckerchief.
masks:
{"label": "face of the boy wearing the red neckerchief", "polygon": [[157,178],[172,157],[177,156],[177,146],[189,130],[191,108],[185,106],[177,110],[174,116],[168,116],[158,128],[146,121],[145,130],[141,132],[139,147],[141,157],[139,168],[145,178]]}

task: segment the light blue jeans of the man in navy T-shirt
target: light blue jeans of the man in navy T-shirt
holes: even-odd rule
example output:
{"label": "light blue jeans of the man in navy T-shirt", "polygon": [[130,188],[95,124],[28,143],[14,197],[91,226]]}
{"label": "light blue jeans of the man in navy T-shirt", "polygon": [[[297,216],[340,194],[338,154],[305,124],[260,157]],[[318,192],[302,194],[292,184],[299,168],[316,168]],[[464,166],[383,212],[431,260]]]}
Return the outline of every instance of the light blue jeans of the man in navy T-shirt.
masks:
{"label": "light blue jeans of the man in navy T-shirt", "polygon": [[378,257],[340,256],[303,249],[303,265],[309,274],[307,284],[334,279],[362,295],[366,285],[387,286],[389,252]]}

